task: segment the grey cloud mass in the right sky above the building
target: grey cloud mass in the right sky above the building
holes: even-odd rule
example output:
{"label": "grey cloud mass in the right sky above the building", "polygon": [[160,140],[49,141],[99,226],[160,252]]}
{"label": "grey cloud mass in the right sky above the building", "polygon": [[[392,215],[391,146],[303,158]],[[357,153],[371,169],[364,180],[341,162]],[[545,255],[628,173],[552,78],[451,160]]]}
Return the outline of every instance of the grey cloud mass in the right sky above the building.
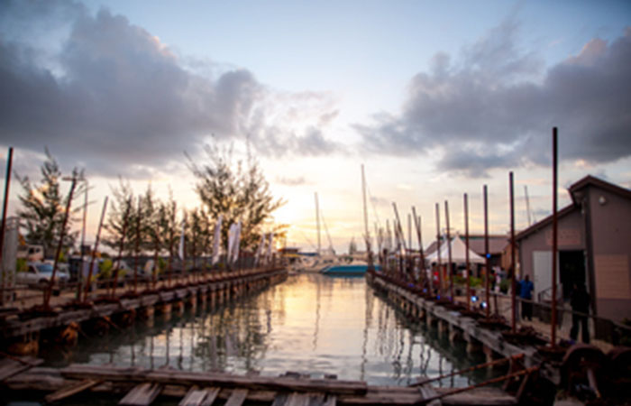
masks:
{"label": "grey cloud mass in the right sky above the building", "polygon": [[397,115],[354,125],[367,150],[437,157],[442,171],[486,176],[494,168],[547,164],[551,129],[562,159],[617,161],[631,155],[631,29],[611,43],[596,39],[543,70],[517,46],[510,20],[462,49],[437,53],[429,72],[409,82]]}

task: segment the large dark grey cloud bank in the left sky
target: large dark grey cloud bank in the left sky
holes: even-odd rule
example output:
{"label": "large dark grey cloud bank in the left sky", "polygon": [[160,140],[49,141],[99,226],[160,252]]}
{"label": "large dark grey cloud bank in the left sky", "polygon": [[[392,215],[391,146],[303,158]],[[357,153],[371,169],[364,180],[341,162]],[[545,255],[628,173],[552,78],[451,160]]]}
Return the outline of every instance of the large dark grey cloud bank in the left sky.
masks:
{"label": "large dark grey cloud bank in the left sky", "polygon": [[[191,68],[121,15],[92,15],[69,2],[10,2],[1,21],[12,22],[0,28],[2,144],[33,151],[48,145],[59,161],[125,176],[133,166],[149,173],[181,159],[211,134],[219,141],[249,136],[270,155],[335,148],[310,125],[270,125],[276,92],[250,70],[211,77],[212,68]],[[316,105],[302,112],[315,122],[330,113]]]}

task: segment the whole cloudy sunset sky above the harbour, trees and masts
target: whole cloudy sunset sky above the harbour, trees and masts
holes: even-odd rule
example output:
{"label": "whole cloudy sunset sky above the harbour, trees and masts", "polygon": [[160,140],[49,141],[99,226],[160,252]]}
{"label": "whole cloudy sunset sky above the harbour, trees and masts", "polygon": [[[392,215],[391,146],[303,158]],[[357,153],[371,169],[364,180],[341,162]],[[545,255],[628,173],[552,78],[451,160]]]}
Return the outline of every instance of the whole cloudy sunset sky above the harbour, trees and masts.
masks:
{"label": "whole cloudy sunset sky above the harbour, trees and masts", "polygon": [[361,164],[371,231],[414,206],[428,245],[447,201],[462,233],[467,193],[481,232],[488,185],[504,234],[509,171],[517,228],[525,187],[531,217],[552,210],[553,126],[560,207],[588,174],[631,188],[630,67],[626,1],[3,1],[0,164],[85,169],[88,241],[120,179],[199,206],[185,152],[207,144],[251,151],[305,251],[315,193],[336,251],[361,240]]}

